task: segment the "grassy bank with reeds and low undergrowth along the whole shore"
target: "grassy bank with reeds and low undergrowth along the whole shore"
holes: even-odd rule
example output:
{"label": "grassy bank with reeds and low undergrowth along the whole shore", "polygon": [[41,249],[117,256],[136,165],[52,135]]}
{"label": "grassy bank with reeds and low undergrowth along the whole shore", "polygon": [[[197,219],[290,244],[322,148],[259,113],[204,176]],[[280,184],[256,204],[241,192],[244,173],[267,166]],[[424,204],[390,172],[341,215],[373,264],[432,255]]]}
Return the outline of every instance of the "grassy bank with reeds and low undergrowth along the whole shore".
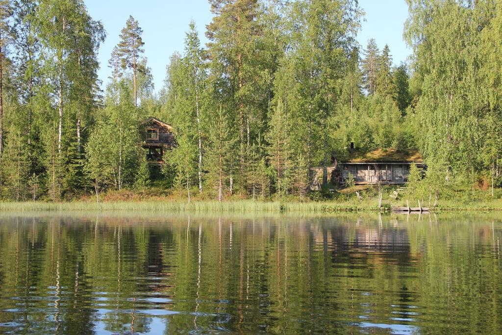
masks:
{"label": "grassy bank with reeds and low undergrowth along the whole shore", "polygon": [[[188,203],[186,199],[152,198],[150,194],[135,197],[124,197],[111,194],[108,199],[96,203],[90,199],[67,202],[0,202],[0,212],[34,212],[34,211],[138,211],[138,212],[185,212],[185,213],[335,213],[335,212],[386,212],[393,206],[405,206],[407,194],[402,194],[398,200],[390,199],[388,194],[392,187],[383,191],[382,208],[378,208],[378,197],[374,187],[359,189],[362,200],[354,196],[354,190],[340,192],[333,200],[298,201],[298,199],[283,200],[241,200],[228,199],[223,202],[215,200],[196,199]],[[117,195],[116,197],[114,195]],[[134,194],[133,194],[134,195]],[[485,194],[483,193],[483,196]],[[150,198],[149,198],[150,197]],[[429,207],[429,199],[423,199],[422,206]],[[416,200],[410,199],[410,206],[418,206]],[[502,199],[495,197],[477,197],[440,199],[436,208],[431,211],[502,211]]]}

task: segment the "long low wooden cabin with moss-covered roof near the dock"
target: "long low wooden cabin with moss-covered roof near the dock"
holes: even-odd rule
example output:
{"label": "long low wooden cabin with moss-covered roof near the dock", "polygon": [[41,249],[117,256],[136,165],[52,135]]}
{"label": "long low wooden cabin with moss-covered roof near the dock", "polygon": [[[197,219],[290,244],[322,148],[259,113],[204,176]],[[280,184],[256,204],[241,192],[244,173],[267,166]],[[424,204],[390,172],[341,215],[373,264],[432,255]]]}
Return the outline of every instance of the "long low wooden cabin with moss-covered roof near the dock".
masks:
{"label": "long low wooden cabin with moss-covered roof near the dock", "polygon": [[405,184],[411,165],[424,168],[424,160],[417,150],[377,149],[367,152],[351,150],[345,160],[339,161],[340,183],[349,173],[356,184]]}

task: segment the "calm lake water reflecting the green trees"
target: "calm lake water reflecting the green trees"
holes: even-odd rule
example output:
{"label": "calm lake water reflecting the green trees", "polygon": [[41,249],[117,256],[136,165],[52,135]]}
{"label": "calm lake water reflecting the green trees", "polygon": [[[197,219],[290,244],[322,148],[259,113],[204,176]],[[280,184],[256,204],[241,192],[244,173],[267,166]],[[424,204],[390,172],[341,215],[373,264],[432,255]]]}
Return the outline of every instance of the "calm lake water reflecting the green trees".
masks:
{"label": "calm lake water reflecting the green trees", "polygon": [[502,333],[502,215],[0,214],[2,333]]}

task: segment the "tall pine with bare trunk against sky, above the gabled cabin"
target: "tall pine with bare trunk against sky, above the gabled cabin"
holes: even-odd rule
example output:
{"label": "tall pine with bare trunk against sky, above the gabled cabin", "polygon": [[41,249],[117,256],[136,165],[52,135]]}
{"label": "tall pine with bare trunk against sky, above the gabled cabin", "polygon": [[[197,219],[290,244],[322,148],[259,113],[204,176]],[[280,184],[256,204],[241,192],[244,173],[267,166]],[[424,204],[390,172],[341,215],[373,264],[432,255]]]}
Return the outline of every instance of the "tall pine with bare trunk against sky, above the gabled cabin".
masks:
{"label": "tall pine with bare trunk against sky, above the gabled cabin", "polygon": [[135,106],[138,106],[138,61],[140,55],[144,52],[143,45],[145,44],[141,38],[141,34],[143,34],[143,30],[138,25],[138,21],[136,21],[132,16],[129,16],[129,19],[126,22],[126,27],[124,27],[120,33],[120,42],[117,45],[122,68],[124,70],[126,68],[133,70]]}

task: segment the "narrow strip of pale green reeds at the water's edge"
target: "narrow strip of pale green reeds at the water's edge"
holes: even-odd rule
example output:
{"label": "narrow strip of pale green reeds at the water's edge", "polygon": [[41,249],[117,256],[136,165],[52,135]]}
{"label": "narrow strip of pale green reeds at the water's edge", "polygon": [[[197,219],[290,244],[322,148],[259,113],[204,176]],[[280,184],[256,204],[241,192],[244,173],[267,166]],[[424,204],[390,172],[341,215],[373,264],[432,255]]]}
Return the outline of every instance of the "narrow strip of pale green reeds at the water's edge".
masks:
{"label": "narrow strip of pale green reeds at the water's edge", "polygon": [[[196,200],[188,203],[180,200],[136,200],[136,201],[70,201],[70,202],[0,202],[0,212],[4,211],[141,211],[141,212],[219,212],[219,213],[350,213],[350,212],[390,212],[392,206],[400,202],[384,203],[381,208],[375,201],[253,201]],[[425,206],[425,205],[424,205]],[[443,201],[433,212],[452,211],[502,211],[502,200],[491,201]]]}

